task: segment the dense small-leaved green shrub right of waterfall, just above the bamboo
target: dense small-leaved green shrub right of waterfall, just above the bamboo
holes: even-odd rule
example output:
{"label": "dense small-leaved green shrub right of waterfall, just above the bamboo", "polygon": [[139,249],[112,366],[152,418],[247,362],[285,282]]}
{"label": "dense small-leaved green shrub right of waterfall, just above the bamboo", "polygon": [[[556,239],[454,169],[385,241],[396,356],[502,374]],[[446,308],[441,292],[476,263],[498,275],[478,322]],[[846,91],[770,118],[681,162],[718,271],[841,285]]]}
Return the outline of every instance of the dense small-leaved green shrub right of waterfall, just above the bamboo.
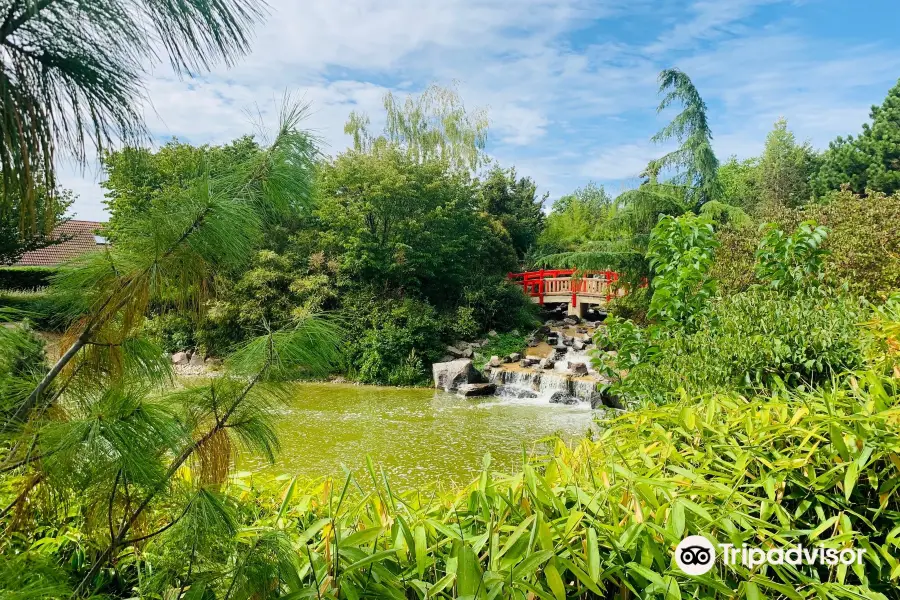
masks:
{"label": "dense small-leaved green shrub right of waterfall, just above the bamboo", "polygon": [[[642,339],[654,349],[635,359],[628,350],[634,344],[626,344],[600,360],[606,370],[628,370],[613,390],[631,402],[668,402],[682,388],[704,394],[818,385],[863,364],[859,324],[866,315],[862,302],[838,291],[789,296],[754,288],[712,303],[696,332],[652,327]],[[611,323],[598,345],[633,339],[619,333],[626,327],[633,326]]]}

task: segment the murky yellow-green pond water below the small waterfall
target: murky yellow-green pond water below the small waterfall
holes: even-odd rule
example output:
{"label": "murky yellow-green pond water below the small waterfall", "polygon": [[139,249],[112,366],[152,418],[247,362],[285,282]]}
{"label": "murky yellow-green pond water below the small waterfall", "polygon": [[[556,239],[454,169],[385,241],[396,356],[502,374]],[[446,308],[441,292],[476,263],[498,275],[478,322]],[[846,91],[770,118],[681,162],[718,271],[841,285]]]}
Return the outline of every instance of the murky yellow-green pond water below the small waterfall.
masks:
{"label": "murky yellow-green pond water below the small waterfall", "polygon": [[278,422],[275,465],[243,457],[240,468],[319,478],[344,467],[368,477],[366,456],[400,489],[471,481],[490,452],[493,470],[511,471],[522,451],[558,433],[573,440],[591,428],[591,411],[544,400],[465,399],[430,389],[297,384]]}

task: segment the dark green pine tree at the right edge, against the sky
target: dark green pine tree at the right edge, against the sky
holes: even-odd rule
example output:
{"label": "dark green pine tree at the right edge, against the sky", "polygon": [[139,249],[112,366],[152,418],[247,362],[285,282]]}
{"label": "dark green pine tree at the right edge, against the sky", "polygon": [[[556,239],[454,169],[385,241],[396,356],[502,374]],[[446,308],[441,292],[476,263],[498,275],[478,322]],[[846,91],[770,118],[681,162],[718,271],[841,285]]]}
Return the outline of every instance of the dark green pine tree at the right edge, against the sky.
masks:
{"label": "dark green pine tree at the right edge, against the sky", "polygon": [[829,144],[815,182],[817,194],[844,185],[857,194],[900,190],[900,80],[869,116],[872,124],[863,124],[858,137],[838,137]]}

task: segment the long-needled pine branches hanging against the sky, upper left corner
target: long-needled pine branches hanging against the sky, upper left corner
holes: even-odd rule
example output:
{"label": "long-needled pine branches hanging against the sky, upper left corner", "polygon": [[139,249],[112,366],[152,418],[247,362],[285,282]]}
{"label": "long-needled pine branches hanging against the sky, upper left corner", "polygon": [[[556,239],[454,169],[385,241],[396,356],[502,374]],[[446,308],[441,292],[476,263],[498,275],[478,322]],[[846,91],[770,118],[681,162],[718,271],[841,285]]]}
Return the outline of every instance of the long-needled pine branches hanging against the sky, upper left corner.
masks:
{"label": "long-needled pine branches hanging against the sky, upper left corner", "polygon": [[160,55],[179,74],[249,49],[262,0],[0,0],[2,208],[32,231],[35,181],[60,155],[84,163],[145,133],[141,77]]}

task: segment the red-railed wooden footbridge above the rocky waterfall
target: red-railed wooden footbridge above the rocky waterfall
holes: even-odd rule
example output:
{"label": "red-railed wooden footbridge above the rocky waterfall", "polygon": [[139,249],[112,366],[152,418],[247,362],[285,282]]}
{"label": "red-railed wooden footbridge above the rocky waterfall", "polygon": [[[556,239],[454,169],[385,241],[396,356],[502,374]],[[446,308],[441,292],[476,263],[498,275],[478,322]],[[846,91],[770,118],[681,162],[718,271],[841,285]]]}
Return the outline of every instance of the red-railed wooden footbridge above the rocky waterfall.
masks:
{"label": "red-railed wooden footbridge above the rocky waterfall", "polygon": [[521,285],[534,302],[542,306],[547,302],[567,303],[569,314],[582,317],[589,306],[604,306],[614,297],[625,295],[625,287],[617,285],[619,274],[615,271],[541,269],[510,273],[509,279]]}

